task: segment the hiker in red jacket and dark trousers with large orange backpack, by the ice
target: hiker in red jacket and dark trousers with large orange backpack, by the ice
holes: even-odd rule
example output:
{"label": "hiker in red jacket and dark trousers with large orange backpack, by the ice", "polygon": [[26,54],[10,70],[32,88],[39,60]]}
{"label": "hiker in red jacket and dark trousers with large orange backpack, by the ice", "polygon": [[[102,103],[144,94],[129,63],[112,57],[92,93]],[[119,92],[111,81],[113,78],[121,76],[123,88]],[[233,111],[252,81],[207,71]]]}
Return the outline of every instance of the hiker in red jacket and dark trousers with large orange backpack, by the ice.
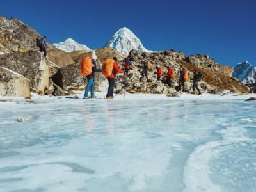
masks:
{"label": "hiker in red jacket and dark trousers with large orange backpack, by the ice", "polygon": [[117,73],[124,73],[124,70],[118,68],[117,58],[106,59],[102,65],[102,74],[107,77],[109,83],[106,99],[113,99],[115,76]]}

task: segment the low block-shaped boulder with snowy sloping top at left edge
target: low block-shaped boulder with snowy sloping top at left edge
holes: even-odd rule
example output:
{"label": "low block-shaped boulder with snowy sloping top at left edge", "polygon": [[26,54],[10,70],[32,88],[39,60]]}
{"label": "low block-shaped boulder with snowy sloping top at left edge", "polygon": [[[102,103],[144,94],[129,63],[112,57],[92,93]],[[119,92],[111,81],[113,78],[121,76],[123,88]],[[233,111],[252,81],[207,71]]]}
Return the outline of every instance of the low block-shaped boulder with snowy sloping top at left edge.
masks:
{"label": "low block-shaped boulder with snowy sloping top at left edge", "polygon": [[24,76],[0,67],[0,95],[30,97],[30,81]]}

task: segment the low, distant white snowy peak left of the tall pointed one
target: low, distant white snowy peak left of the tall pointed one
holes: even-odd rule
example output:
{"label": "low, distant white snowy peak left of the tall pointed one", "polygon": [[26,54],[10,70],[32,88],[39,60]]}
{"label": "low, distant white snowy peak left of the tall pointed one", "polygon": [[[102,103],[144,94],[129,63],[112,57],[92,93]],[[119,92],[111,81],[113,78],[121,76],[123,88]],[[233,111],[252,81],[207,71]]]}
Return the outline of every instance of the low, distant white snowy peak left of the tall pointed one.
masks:
{"label": "low, distant white snowy peak left of the tall pointed one", "polygon": [[72,38],[68,38],[65,42],[60,42],[58,44],[53,44],[56,48],[61,49],[65,52],[72,52],[77,50],[91,50],[89,47],[83,44],[79,44]]}

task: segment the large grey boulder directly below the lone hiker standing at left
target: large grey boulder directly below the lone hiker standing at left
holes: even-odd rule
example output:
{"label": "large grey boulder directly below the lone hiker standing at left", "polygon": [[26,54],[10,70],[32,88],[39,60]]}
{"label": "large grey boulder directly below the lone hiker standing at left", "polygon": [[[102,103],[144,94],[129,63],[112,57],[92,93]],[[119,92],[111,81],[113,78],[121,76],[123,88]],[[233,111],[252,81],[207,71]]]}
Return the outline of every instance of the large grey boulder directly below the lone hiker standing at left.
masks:
{"label": "large grey boulder directly below the lone hiker standing at left", "polygon": [[44,94],[49,88],[49,67],[39,51],[1,55],[0,66],[28,78],[31,82],[31,89],[39,94]]}

